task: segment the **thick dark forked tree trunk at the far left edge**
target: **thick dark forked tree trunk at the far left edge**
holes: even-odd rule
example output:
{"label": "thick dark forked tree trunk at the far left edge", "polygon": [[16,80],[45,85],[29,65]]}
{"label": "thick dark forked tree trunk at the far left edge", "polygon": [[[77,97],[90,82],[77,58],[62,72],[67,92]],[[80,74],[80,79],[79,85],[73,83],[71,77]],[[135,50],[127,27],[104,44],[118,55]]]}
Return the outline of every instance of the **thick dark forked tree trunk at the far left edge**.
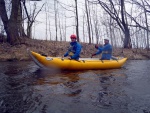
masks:
{"label": "thick dark forked tree trunk at the far left edge", "polygon": [[2,18],[4,29],[7,34],[7,42],[10,44],[18,43],[19,33],[18,33],[18,10],[19,10],[20,0],[12,0],[12,10],[10,19],[8,19],[5,1],[0,0],[0,16]]}

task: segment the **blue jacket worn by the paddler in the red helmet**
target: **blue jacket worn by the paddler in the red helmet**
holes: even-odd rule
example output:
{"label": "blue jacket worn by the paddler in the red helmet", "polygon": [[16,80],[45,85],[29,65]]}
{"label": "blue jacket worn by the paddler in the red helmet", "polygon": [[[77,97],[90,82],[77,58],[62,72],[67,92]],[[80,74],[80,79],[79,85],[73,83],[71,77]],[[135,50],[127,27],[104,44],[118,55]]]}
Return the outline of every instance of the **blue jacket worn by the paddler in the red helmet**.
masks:
{"label": "blue jacket worn by the paddler in the red helmet", "polygon": [[80,53],[81,53],[81,49],[82,46],[80,43],[78,42],[71,42],[70,43],[70,48],[68,49],[68,51],[64,54],[64,57],[68,56],[70,52],[73,53],[71,57],[71,59],[75,59],[78,60],[80,57]]}

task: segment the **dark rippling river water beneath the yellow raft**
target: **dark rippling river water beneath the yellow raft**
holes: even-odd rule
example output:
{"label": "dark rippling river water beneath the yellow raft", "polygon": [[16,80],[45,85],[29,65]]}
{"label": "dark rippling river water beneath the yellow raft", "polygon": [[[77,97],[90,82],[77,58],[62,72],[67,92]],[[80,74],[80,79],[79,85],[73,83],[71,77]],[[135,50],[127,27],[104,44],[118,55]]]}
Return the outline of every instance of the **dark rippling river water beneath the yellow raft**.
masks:
{"label": "dark rippling river water beneath the yellow raft", "polygon": [[0,62],[0,113],[150,113],[150,61],[58,71]]}

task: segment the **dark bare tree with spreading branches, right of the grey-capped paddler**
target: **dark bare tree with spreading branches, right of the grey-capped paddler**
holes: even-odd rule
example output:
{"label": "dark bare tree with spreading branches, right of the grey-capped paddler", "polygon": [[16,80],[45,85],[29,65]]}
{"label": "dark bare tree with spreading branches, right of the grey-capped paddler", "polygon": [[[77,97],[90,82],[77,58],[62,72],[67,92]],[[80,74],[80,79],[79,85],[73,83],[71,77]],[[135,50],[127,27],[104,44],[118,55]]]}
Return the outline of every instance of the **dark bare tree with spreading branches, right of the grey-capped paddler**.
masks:
{"label": "dark bare tree with spreading branches, right of the grey-capped paddler", "polygon": [[[124,33],[124,48],[131,48],[131,40],[130,40],[130,30],[128,27],[128,22],[125,19],[125,5],[124,0],[121,0],[119,2],[120,10],[117,11],[115,8],[115,4],[112,0],[108,0],[109,5],[102,0],[98,0],[99,4],[102,6],[102,8],[113,18],[118,26],[121,28],[122,32]],[[120,15],[119,13],[120,12]]]}

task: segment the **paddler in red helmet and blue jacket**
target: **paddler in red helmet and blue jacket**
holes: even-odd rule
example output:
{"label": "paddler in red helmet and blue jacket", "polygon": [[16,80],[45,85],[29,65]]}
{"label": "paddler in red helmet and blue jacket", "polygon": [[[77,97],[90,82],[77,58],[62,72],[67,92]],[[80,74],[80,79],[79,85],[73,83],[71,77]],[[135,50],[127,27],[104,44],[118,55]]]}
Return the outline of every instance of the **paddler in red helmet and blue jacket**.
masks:
{"label": "paddler in red helmet and blue jacket", "polygon": [[76,35],[70,36],[71,43],[68,51],[64,54],[64,57],[69,56],[69,59],[79,60],[82,46],[76,41]]}

